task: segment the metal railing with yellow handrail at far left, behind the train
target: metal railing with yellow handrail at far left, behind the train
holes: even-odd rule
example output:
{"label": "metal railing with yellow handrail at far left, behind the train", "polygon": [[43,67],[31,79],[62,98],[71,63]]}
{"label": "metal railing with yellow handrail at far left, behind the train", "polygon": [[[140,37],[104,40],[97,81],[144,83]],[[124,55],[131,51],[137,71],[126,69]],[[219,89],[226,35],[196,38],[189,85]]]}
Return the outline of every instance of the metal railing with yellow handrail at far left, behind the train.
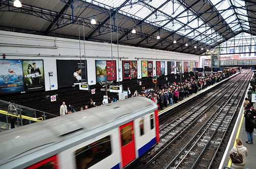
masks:
{"label": "metal railing with yellow handrail at far left, behind the train", "polygon": [[[42,120],[47,120],[53,117],[57,117],[56,115],[49,114],[45,111],[36,110],[33,108],[25,107],[22,105],[12,103],[18,111],[18,115],[10,115],[8,114],[8,105],[10,103],[4,100],[0,100],[0,129],[6,130],[10,129],[10,119],[11,117],[15,117],[15,126],[24,126],[27,124],[31,124],[34,122],[40,122]],[[13,118],[12,118],[13,119]]]}

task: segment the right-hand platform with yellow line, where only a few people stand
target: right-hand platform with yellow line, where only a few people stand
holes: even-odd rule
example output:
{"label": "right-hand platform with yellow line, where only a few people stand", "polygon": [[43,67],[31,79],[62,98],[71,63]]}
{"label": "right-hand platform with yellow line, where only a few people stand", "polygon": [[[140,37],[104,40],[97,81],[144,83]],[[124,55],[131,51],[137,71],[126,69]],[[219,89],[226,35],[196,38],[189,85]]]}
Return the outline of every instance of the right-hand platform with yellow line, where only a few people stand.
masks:
{"label": "right-hand platform with yellow line, where only a few people stand", "polygon": [[[247,90],[246,90],[246,95],[243,98],[243,100],[247,97],[247,91],[250,88],[250,85],[248,86]],[[253,103],[254,108],[256,107],[256,103]],[[254,169],[256,168],[256,145],[255,145],[255,141],[256,141],[256,135],[254,135],[256,132],[255,130],[253,131],[253,139],[255,140],[253,144],[246,144],[245,142],[247,142],[247,133],[245,131],[245,118],[244,118],[244,107],[241,106],[241,109],[239,111],[239,115],[236,121],[236,124],[234,125],[233,131],[231,133],[231,136],[229,138],[228,141],[228,145],[227,148],[225,150],[225,153],[223,155],[223,158],[221,160],[219,169],[223,169],[224,167],[230,167],[231,166],[231,160],[229,160],[229,152],[231,150],[232,147],[236,146],[236,139],[240,138],[242,139],[242,143],[243,146],[247,148],[248,150],[248,156],[246,157],[246,161],[245,161],[245,167],[244,168],[248,168],[248,169]]]}

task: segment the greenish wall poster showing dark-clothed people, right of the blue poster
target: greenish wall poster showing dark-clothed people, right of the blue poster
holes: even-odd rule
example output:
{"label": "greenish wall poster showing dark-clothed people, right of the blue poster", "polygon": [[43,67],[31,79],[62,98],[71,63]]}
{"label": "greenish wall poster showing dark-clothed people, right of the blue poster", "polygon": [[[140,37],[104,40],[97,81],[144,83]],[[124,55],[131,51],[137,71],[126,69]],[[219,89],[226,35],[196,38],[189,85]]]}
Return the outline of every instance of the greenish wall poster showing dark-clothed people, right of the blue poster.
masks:
{"label": "greenish wall poster showing dark-clothed people, right of the blue poster", "polygon": [[42,60],[23,60],[25,90],[45,89],[44,63]]}

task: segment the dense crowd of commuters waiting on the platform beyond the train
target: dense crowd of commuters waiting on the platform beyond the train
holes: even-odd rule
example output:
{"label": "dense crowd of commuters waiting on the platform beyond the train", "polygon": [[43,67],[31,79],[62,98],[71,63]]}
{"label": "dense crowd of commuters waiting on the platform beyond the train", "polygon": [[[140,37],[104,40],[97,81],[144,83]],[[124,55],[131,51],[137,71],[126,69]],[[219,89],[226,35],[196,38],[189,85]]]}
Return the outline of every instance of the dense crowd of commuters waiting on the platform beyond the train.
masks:
{"label": "dense crowd of commuters waiting on the platform beyond the train", "polygon": [[[159,89],[145,90],[145,88],[142,88],[140,93],[137,90],[134,94],[130,92],[129,97],[146,97],[152,99],[158,104],[159,109],[163,109],[163,107],[167,107],[168,104],[173,105],[174,103],[178,103],[185,97],[189,97],[191,94],[214,85],[214,83],[229,77],[233,73],[236,73],[236,71],[205,75],[204,77],[199,75],[197,79],[193,76],[187,78],[184,82],[167,82],[164,86],[159,83]],[[129,90],[129,88],[127,90]]]}

